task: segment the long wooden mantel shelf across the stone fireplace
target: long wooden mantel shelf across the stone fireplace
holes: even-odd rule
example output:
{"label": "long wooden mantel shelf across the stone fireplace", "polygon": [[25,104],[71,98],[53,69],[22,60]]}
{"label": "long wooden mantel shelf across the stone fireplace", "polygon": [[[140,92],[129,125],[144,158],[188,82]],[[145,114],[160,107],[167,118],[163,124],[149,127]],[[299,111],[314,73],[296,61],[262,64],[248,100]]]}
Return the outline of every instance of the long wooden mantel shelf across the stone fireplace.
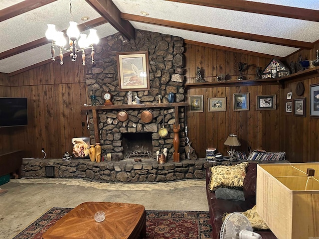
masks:
{"label": "long wooden mantel shelf across the stone fireplace", "polygon": [[82,106],[81,110],[122,110],[122,109],[148,109],[148,108],[172,108],[187,106],[186,102],[178,103],[156,103],[156,104],[139,104],[139,105],[113,105],[113,106]]}

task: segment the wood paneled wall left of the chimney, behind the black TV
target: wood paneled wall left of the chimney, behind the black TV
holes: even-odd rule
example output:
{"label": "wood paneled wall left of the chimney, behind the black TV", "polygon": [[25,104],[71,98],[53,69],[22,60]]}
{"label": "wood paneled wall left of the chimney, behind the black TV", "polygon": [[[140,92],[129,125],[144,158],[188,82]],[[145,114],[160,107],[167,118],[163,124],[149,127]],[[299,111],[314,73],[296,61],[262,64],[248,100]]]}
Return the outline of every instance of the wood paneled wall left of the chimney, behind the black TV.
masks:
{"label": "wood paneled wall left of the chimney, behind the black TV", "polygon": [[47,158],[61,158],[71,153],[73,137],[89,136],[80,109],[87,96],[79,62],[60,66],[56,61],[9,78],[9,92],[2,86],[1,95],[28,99],[28,126],[0,128],[2,140],[9,142],[0,150],[22,149],[23,157],[42,158],[44,148]]}

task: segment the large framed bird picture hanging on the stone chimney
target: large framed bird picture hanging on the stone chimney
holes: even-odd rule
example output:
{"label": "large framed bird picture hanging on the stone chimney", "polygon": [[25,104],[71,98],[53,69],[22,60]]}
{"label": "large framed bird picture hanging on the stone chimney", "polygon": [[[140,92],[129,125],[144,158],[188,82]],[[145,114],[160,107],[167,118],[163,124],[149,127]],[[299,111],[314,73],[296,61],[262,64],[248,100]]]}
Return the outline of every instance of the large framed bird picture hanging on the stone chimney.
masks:
{"label": "large framed bird picture hanging on the stone chimney", "polygon": [[149,52],[118,52],[119,91],[150,90]]}

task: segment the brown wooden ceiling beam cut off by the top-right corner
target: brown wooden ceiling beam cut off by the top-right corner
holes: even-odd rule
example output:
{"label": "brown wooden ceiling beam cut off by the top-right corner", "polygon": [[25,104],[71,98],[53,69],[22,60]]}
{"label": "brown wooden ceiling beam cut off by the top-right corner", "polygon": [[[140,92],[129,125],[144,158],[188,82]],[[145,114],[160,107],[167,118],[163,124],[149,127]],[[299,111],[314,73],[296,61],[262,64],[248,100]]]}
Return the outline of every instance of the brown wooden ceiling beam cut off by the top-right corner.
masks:
{"label": "brown wooden ceiling beam cut off by the top-right corner", "polygon": [[235,11],[245,11],[272,16],[319,22],[319,10],[283,6],[246,0],[167,0],[200,6],[210,6]]}

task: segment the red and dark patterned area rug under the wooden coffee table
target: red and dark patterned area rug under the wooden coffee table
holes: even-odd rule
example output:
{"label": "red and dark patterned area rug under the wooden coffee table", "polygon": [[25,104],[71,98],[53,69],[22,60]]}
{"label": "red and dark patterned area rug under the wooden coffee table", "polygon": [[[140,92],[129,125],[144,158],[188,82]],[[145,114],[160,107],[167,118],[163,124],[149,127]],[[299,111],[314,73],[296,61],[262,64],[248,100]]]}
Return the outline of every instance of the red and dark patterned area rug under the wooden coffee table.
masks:
{"label": "red and dark patterned area rug under the wooden coffee table", "polygon": [[[42,234],[71,208],[51,208],[13,239],[42,239]],[[208,212],[146,211],[146,239],[211,239]]]}

